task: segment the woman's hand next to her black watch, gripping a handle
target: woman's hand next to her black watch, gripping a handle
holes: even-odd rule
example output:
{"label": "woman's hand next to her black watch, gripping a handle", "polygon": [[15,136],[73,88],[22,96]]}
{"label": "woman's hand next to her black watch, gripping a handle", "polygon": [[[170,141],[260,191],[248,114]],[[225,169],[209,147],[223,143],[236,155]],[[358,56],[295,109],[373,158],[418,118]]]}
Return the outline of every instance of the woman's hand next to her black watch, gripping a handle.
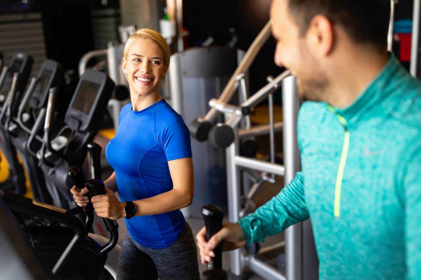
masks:
{"label": "woman's hand next to her black watch, gripping a handle", "polygon": [[91,201],[96,214],[99,217],[112,220],[124,217],[124,203],[120,202],[112,190],[105,188],[107,194],[95,195]]}

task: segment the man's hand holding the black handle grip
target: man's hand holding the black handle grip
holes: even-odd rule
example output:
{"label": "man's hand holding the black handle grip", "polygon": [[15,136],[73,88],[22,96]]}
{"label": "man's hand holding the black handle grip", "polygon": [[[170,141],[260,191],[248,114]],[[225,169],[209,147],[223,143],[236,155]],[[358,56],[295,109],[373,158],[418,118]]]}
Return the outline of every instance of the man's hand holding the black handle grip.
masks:
{"label": "man's hand holding the black handle grip", "polygon": [[244,232],[240,225],[237,223],[222,223],[222,229],[214,234],[210,240],[206,241],[206,228],[203,227],[196,235],[197,247],[200,251],[200,261],[202,264],[210,262],[215,257],[215,253],[212,251],[218,246],[221,241],[222,251],[231,251],[237,248],[245,246],[247,240],[245,240]]}

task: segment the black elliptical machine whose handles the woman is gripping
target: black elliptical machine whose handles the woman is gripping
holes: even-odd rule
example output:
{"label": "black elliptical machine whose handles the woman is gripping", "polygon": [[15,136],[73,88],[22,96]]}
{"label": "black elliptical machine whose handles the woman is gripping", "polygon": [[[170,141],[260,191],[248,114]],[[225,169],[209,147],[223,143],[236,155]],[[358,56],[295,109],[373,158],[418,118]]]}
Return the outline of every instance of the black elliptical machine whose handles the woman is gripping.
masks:
{"label": "black elliptical machine whose handles the woman is gripping", "polygon": [[[51,92],[45,116],[45,129],[48,131],[53,117],[54,92]],[[99,170],[99,153],[96,153],[96,146],[89,145],[91,170]],[[92,179],[85,182],[85,175],[82,169],[72,169],[68,173],[70,180],[77,188],[88,188],[90,196],[104,195],[105,186],[101,180]],[[65,210],[38,201],[32,201],[21,195],[0,190],[0,197],[10,207],[21,228],[25,230],[28,242],[35,251],[36,256],[47,271],[51,271],[57,279],[99,279],[104,273],[104,265],[107,255],[116,246],[118,240],[118,225],[115,221],[103,218],[111,238],[107,244],[100,246],[96,240],[99,239],[88,233],[93,221],[93,207],[90,203],[83,211],[87,212],[88,219],[85,225],[75,217],[82,211],[81,207]],[[22,215],[22,213],[24,215]],[[53,222],[66,225],[28,225],[25,217],[29,215],[32,220],[37,218],[47,219]],[[110,272],[108,277],[112,275]],[[115,271],[114,273],[115,274]]]}

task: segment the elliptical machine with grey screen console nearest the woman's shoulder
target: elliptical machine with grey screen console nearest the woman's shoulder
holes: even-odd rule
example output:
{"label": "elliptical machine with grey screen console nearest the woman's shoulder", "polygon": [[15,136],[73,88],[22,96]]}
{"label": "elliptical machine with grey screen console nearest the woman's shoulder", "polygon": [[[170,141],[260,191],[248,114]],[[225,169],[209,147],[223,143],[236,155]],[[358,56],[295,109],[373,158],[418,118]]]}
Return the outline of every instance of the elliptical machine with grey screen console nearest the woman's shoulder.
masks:
{"label": "elliptical machine with grey screen console nearest the woman's shoulder", "polygon": [[[99,130],[101,118],[114,87],[114,83],[106,74],[88,69],[80,77],[64,122],[55,123],[52,114],[48,112],[52,117],[48,119],[48,126],[44,126],[43,137],[38,134],[42,129],[45,111],[40,113],[34,124],[26,148],[39,159],[48,192],[56,206],[70,209],[76,205],[69,191],[74,183],[68,176],[68,171],[82,166],[87,153],[87,143],[93,140]],[[55,88],[50,89],[50,95],[56,94]],[[55,99],[51,98],[49,101],[51,103],[48,104],[48,108],[51,111],[54,111]],[[54,138],[53,129],[59,129]],[[33,149],[35,140],[41,143],[38,151]]]}

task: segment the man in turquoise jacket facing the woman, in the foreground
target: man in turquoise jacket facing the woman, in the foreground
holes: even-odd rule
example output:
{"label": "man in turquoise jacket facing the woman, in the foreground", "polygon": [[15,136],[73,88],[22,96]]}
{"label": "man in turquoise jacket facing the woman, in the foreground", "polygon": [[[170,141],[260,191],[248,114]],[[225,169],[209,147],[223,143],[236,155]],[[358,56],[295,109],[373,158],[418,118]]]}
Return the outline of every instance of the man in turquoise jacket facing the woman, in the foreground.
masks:
{"label": "man in turquoise jacket facing the woman, in the foreground", "polygon": [[[386,51],[386,0],[274,0],[297,77],[302,171],[205,241],[202,263],[311,218],[320,279],[421,279],[421,83]],[[305,252],[304,252],[305,254]]]}

